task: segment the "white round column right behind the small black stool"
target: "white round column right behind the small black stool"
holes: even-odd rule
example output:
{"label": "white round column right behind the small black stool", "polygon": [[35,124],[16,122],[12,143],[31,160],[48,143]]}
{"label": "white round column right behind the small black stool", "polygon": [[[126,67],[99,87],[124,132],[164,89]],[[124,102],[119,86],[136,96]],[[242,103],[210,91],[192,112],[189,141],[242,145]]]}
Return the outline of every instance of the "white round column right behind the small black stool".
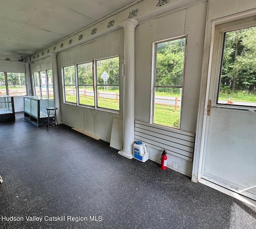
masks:
{"label": "white round column right behind the small black stool", "polygon": [[58,80],[58,65],[57,65],[57,53],[51,53],[52,58],[52,83],[53,83],[53,95],[54,95],[54,107],[58,108],[56,110],[56,116],[58,123],[62,123],[61,113],[60,113],[60,90],[59,90],[59,80]]}

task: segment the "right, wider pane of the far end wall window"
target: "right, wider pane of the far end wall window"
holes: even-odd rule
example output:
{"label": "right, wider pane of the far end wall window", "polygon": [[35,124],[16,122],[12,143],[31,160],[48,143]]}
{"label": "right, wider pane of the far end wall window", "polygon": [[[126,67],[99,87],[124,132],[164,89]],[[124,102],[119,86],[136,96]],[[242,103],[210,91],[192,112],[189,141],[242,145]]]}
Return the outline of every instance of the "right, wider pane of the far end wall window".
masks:
{"label": "right, wider pane of the far end wall window", "polygon": [[26,96],[25,73],[7,72],[9,96]]}

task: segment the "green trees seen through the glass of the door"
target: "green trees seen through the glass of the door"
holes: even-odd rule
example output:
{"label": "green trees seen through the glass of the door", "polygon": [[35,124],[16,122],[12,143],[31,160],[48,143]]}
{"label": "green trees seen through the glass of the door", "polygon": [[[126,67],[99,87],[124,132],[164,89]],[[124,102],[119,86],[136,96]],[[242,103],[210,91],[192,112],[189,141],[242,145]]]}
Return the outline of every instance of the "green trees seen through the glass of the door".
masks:
{"label": "green trees seen through the glass of the door", "polygon": [[226,32],[221,87],[252,90],[256,79],[256,28]]}

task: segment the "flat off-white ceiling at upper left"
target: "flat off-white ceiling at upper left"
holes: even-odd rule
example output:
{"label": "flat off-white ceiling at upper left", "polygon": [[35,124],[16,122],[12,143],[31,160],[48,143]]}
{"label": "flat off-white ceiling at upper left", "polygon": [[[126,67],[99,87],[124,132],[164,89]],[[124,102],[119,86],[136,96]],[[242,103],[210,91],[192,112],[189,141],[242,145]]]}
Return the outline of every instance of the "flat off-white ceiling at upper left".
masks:
{"label": "flat off-white ceiling at upper left", "polygon": [[0,1],[0,56],[27,57],[141,0]]}

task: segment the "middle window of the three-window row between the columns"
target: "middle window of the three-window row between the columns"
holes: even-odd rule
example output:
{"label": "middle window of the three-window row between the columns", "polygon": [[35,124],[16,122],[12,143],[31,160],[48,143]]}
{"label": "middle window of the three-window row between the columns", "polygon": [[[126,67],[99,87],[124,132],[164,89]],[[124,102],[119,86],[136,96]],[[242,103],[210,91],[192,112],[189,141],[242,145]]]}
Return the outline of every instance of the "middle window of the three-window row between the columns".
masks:
{"label": "middle window of the three-window row between the columns", "polygon": [[78,88],[79,102],[78,104],[94,106],[94,87],[92,62],[78,64]]}

